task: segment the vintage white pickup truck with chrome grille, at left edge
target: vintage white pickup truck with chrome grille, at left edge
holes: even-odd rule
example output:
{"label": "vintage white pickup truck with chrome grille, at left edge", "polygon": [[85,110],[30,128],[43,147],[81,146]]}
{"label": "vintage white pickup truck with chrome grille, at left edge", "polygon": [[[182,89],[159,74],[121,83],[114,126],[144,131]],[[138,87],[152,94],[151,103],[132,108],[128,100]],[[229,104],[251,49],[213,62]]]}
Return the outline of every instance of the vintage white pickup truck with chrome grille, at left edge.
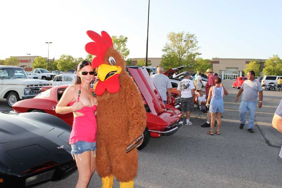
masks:
{"label": "vintage white pickup truck with chrome grille, at left edge", "polygon": [[22,67],[0,65],[0,99],[7,99],[10,107],[21,99],[35,97],[42,86],[51,85],[51,81],[29,79]]}

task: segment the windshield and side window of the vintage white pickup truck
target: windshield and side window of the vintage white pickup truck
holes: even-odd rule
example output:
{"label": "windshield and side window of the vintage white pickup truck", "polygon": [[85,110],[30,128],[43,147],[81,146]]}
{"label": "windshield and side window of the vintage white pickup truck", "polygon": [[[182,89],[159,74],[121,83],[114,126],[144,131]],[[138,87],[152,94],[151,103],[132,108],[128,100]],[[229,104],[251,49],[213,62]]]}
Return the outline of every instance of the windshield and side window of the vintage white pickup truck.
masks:
{"label": "windshield and side window of the vintage white pickup truck", "polygon": [[28,78],[28,76],[26,75],[24,69],[21,68],[2,68],[0,69],[0,78]]}

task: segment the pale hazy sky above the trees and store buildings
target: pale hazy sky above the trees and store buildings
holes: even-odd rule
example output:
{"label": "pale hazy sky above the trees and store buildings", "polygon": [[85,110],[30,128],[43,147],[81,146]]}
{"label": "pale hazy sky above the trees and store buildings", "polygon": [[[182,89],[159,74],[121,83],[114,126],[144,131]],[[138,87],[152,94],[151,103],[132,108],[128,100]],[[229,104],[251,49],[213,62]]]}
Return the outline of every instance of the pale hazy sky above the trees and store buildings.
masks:
{"label": "pale hazy sky above the trees and store buildings", "polygon": [[[87,30],[128,37],[128,58],[146,56],[148,0],[0,2],[0,59],[26,54],[83,57]],[[169,32],[195,34],[204,59],[282,58],[282,1],[151,0],[148,57]]]}

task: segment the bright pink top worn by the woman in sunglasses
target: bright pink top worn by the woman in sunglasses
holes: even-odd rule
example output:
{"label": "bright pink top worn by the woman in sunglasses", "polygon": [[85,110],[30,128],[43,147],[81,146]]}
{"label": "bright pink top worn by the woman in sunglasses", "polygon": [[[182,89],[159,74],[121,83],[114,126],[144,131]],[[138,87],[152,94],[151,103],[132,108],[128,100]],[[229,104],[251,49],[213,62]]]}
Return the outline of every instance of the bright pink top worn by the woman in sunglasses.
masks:
{"label": "bright pink top worn by the woman in sunglasses", "polygon": [[[79,97],[77,100],[79,101]],[[75,102],[70,102],[70,106]],[[77,141],[96,142],[97,124],[94,114],[96,110],[97,106],[93,105],[92,107],[82,107],[76,111],[83,113],[84,116],[73,118],[69,144],[74,144]]]}

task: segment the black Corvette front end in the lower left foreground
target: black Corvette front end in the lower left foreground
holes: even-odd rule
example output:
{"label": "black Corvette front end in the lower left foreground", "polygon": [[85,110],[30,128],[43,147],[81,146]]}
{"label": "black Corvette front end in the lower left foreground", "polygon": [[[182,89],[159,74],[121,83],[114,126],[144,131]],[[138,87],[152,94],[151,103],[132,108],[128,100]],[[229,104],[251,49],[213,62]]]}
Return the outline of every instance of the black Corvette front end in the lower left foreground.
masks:
{"label": "black Corvette front end in the lower left foreground", "polygon": [[76,171],[68,140],[71,127],[39,112],[0,112],[0,188],[61,180]]}

